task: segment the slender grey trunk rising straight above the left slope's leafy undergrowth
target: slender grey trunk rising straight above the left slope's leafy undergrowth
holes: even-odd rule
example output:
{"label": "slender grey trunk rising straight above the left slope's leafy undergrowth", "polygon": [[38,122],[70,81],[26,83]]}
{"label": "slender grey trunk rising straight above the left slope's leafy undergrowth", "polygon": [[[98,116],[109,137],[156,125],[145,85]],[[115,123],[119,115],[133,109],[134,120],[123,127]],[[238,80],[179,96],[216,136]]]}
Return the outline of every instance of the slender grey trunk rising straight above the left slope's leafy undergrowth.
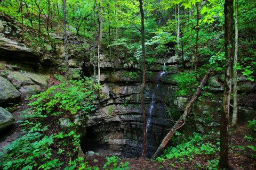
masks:
{"label": "slender grey trunk rising straight above the left slope's leafy undergrowth", "polygon": [[66,79],[67,82],[69,81],[69,76],[68,76],[68,49],[67,49],[67,44],[68,44],[68,39],[67,39],[67,19],[66,19],[66,0],[63,1],[63,38],[64,38],[64,51],[65,51],[65,66],[66,66]]}

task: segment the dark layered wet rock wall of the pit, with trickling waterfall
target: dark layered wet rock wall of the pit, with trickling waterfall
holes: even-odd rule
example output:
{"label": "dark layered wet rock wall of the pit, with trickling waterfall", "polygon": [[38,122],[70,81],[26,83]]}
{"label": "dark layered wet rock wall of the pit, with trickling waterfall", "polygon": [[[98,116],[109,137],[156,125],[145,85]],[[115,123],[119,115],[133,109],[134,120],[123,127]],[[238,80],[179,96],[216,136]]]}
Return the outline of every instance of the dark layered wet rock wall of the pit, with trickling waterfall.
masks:
{"label": "dark layered wet rock wall of the pit, with trickling waterfall", "polygon": [[[141,80],[125,78],[121,71],[112,74],[102,71],[102,74],[106,75],[106,79],[102,79],[106,82],[102,88],[106,96],[86,122],[81,147],[84,153],[92,150],[105,156],[140,157],[143,138]],[[173,104],[175,89],[173,85],[159,80],[147,83],[145,105],[148,117],[152,96],[155,95],[147,133],[147,157],[154,154],[167,129],[173,126],[166,111]]]}

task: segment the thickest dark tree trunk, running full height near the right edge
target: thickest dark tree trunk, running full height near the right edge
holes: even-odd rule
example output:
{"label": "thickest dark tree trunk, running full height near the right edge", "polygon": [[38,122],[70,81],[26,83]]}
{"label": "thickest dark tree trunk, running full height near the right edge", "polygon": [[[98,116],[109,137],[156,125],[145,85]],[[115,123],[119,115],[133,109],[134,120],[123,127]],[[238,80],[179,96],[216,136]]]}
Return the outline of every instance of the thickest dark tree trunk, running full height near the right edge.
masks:
{"label": "thickest dark tree trunk, running full height near the right edge", "polygon": [[230,95],[233,71],[234,56],[234,28],[233,28],[233,0],[225,0],[225,55],[226,55],[226,74],[222,99],[222,113],[220,123],[220,159],[219,168],[229,168],[228,160],[228,119],[230,108]]}

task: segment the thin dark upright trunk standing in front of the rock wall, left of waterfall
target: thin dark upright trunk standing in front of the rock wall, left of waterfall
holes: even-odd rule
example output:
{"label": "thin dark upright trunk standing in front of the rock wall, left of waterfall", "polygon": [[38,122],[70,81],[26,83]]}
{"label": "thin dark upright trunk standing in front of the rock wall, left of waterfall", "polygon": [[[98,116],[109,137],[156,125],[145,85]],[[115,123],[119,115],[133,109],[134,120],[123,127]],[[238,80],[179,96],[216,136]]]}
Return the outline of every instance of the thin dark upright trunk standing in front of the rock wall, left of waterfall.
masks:
{"label": "thin dark upright trunk standing in front of the rock wall, left of waterfall", "polygon": [[143,4],[142,0],[140,2],[140,13],[141,13],[141,49],[142,49],[142,87],[140,89],[140,99],[141,99],[141,107],[143,113],[143,150],[141,157],[146,156],[146,149],[147,149],[147,133],[146,133],[146,109],[144,103],[144,89],[146,86],[146,62],[145,62],[145,28],[144,28],[144,11],[143,11]]}

